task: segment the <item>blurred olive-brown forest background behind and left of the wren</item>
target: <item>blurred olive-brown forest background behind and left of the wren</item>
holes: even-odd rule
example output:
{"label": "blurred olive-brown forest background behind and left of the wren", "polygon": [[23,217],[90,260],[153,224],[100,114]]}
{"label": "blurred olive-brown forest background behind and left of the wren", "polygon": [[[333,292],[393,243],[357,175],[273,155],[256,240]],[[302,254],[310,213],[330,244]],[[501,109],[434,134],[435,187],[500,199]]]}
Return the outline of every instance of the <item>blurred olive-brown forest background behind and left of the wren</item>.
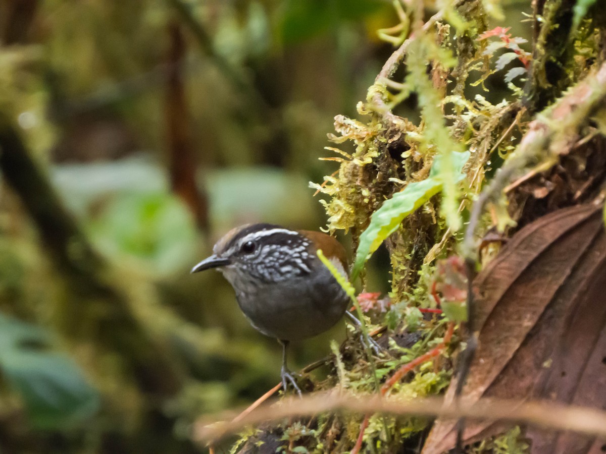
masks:
{"label": "blurred olive-brown forest background behind and left of the wren", "polygon": [[193,419],[278,382],[275,340],[188,272],[233,226],[325,225],[309,182],[398,23],[383,0],[0,1],[0,453],[200,452]]}

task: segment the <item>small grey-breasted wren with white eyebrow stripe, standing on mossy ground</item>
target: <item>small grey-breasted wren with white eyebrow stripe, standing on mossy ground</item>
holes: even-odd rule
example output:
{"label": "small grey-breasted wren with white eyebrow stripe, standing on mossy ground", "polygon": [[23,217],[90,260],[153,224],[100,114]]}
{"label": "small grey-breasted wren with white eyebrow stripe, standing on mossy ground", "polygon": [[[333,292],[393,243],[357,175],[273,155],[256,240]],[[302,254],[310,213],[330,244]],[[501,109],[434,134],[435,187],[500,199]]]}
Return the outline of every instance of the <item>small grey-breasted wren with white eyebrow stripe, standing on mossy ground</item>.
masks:
{"label": "small grey-breasted wren with white eyebrow stripe, standing on mossy ground", "polygon": [[286,366],[288,342],[327,331],[350,301],[319,260],[318,249],[347,275],[345,249],[333,237],[272,224],[232,229],[216,243],[213,255],[191,269],[218,268],[223,273],[248,321],[282,344],[282,386],[286,390],[288,380],[299,394]]}

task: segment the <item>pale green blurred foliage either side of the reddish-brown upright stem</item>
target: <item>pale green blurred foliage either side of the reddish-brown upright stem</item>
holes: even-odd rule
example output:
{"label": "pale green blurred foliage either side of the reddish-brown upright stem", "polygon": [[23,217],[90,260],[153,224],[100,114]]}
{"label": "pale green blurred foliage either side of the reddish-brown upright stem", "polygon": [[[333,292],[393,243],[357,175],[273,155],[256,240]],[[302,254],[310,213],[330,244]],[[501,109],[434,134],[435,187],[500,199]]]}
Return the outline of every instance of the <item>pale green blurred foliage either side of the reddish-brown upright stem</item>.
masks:
{"label": "pale green blurred foliage either side of the reddish-brown upright stem", "polygon": [[[207,180],[210,223],[224,232],[245,222],[309,225],[318,210],[298,173],[268,166],[215,169]],[[64,164],[53,180],[97,247],[116,260],[142,261],[147,272],[170,274],[191,266],[196,229],[191,213],[170,194],[162,168],[142,157]],[[296,210],[288,209],[295,204]]]}

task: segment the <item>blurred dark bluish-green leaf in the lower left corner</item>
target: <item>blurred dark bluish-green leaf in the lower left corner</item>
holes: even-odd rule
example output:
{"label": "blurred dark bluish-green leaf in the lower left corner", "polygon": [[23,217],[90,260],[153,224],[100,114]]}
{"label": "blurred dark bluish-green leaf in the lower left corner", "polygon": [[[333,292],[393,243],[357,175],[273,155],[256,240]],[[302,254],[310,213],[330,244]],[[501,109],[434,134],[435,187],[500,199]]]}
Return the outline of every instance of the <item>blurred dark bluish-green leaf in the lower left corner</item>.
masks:
{"label": "blurred dark bluish-green leaf in the lower left corner", "polygon": [[98,392],[72,360],[49,351],[41,328],[0,314],[0,370],[39,429],[80,423],[99,407]]}

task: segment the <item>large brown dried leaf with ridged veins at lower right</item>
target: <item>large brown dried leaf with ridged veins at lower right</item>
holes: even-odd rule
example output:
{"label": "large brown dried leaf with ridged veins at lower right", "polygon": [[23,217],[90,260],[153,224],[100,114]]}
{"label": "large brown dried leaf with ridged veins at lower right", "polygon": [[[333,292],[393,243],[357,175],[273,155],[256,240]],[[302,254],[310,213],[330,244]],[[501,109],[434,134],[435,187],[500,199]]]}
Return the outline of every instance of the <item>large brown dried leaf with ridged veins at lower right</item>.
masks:
{"label": "large brown dried leaf with ridged veins at lower right", "polygon": [[[601,207],[561,209],[525,226],[474,280],[479,347],[462,400],[550,399],[606,406],[606,235]],[[602,385],[602,386],[600,386]],[[451,383],[446,399],[454,397]],[[454,447],[456,421],[436,421],[424,454]],[[502,432],[468,423],[466,443]],[[601,444],[530,432],[533,453],[585,454]]]}

